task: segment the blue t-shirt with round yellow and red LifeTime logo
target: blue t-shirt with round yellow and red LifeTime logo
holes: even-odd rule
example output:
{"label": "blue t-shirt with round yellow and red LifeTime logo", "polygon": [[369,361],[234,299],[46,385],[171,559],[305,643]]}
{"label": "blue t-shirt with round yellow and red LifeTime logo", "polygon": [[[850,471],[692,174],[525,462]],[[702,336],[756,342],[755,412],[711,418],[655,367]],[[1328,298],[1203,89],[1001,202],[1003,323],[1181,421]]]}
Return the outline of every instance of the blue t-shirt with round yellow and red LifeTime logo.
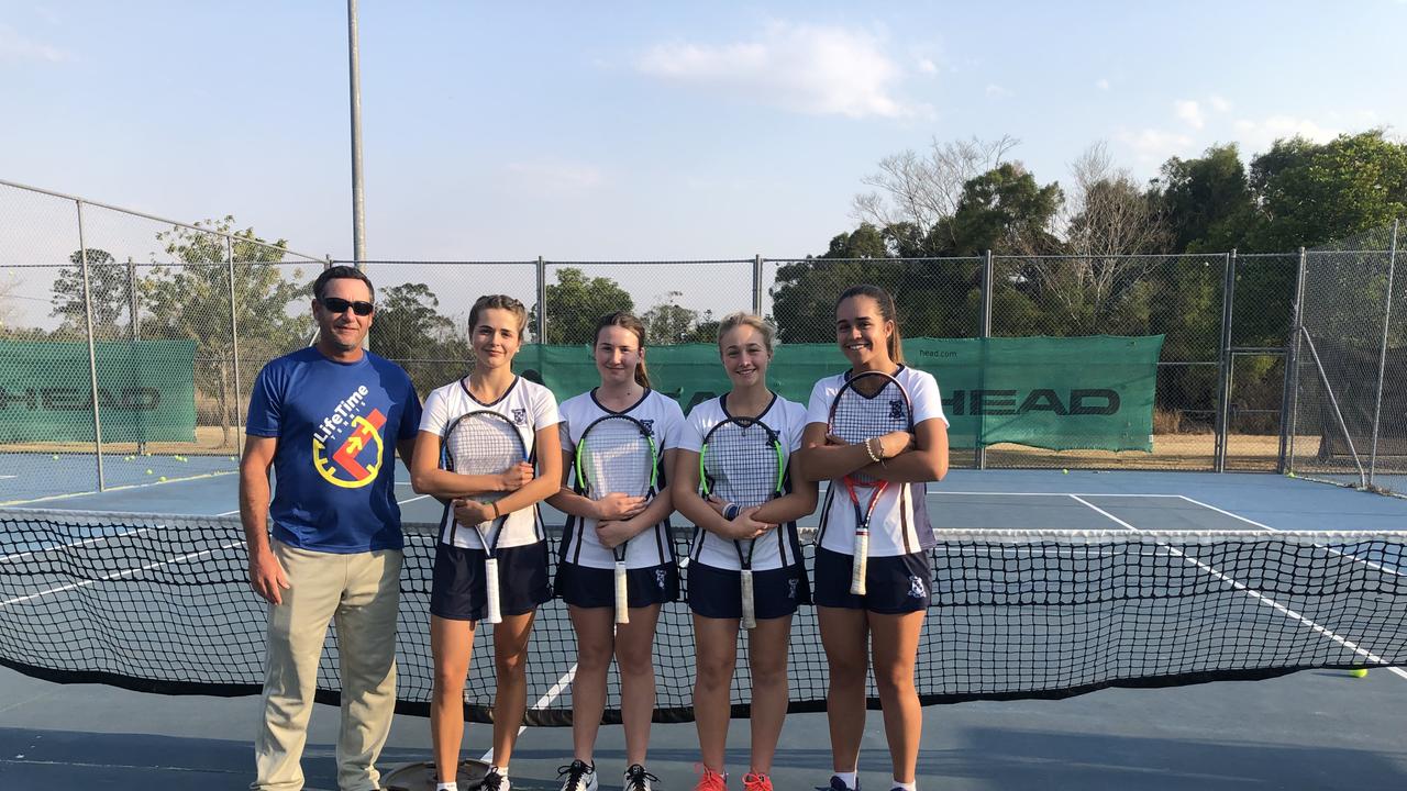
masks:
{"label": "blue t-shirt with round yellow and red LifeTime logo", "polygon": [[339,363],[310,346],[266,365],[246,434],[279,439],[273,536],[315,552],[401,549],[395,443],[419,425],[411,377],[370,352]]}

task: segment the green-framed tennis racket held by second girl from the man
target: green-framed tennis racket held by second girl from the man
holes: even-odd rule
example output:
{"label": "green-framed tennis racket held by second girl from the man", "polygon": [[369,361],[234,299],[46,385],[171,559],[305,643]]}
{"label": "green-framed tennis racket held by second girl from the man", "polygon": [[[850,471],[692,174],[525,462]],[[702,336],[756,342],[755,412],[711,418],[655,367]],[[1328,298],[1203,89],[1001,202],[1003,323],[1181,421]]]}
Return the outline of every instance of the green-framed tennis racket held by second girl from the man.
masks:
{"label": "green-framed tennis racket held by second girl from the man", "polygon": [[[615,493],[649,497],[654,491],[657,466],[654,436],[644,424],[628,415],[597,418],[577,442],[577,486],[592,500]],[[616,624],[630,622],[625,566],[629,543],[620,542],[611,550],[615,556]]]}

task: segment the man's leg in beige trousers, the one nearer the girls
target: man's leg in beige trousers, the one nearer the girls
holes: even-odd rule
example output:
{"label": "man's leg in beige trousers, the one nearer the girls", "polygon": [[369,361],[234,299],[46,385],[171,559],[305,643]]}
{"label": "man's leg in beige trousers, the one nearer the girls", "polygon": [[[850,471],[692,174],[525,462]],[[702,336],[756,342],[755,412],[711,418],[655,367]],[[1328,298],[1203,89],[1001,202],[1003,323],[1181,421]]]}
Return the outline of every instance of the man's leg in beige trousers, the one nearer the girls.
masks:
{"label": "man's leg in beige trousers, the one nearer the girls", "polygon": [[342,791],[370,791],[381,780],[374,764],[395,714],[395,616],[402,555],[381,550],[348,559],[348,591],[336,612],[342,657],[338,785]]}

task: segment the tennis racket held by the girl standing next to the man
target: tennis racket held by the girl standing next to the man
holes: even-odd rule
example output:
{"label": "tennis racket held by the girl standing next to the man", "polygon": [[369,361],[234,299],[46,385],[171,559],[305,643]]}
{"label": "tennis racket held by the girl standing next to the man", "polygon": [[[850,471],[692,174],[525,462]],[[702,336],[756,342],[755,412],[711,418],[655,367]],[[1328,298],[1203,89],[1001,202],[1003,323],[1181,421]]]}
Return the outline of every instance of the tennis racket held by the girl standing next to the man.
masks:
{"label": "tennis racket held by the girl standing next to the man", "polygon": [[[528,450],[518,428],[507,417],[488,410],[456,418],[445,429],[445,439],[440,443],[440,466],[466,476],[494,476],[526,460]],[[476,494],[474,500],[488,504],[502,500],[507,494],[507,491],[485,491]],[[446,505],[446,514],[450,511],[452,508]],[[478,540],[484,545],[484,586],[488,595],[488,615],[484,621],[490,624],[504,619],[498,597],[498,538],[507,521],[508,514],[499,514],[497,519],[474,525]],[[452,545],[457,526],[456,522],[450,528]]]}

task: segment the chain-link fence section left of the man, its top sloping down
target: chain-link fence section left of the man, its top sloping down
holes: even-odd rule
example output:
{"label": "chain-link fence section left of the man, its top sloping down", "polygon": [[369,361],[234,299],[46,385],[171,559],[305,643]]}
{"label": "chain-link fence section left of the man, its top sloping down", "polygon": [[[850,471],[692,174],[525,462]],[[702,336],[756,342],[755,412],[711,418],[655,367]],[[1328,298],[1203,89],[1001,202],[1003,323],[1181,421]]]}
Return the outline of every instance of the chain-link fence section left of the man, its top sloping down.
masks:
{"label": "chain-link fence section left of the man, its top sloping down", "polygon": [[326,259],[0,182],[0,501],[238,469]]}

